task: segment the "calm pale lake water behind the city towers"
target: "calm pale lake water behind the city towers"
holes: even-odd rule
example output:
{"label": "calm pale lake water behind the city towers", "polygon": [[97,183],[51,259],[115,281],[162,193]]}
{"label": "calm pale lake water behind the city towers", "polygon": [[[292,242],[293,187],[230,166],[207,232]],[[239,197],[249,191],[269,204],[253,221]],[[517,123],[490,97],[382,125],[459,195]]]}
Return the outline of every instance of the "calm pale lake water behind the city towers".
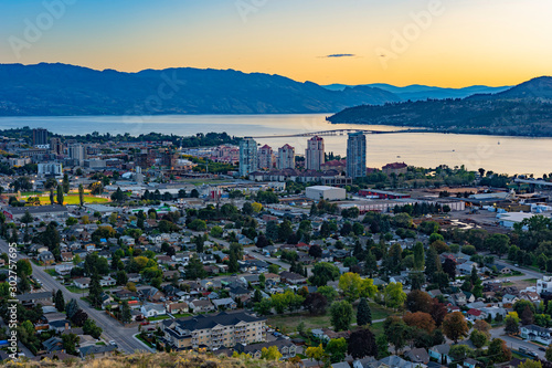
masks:
{"label": "calm pale lake water behind the city towers", "polygon": [[[330,115],[330,114],[328,114]],[[193,135],[226,132],[234,136],[269,136],[320,132],[340,128],[397,130],[397,127],[353,124],[329,124],[326,115],[161,115],[161,116],[72,116],[2,117],[0,128],[43,127],[57,134],[93,132],[139,135],[150,132]],[[263,138],[273,149],[290,144],[305,154],[307,137]],[[346,136],[323,137],[326,151],[344,155]],[[552,138],[497,137],[482,135],[400,133],[367,135],[368,166],[381,168],[394,161],[421,167],[465,165],[468,169],[506,174],[552,172]]]}

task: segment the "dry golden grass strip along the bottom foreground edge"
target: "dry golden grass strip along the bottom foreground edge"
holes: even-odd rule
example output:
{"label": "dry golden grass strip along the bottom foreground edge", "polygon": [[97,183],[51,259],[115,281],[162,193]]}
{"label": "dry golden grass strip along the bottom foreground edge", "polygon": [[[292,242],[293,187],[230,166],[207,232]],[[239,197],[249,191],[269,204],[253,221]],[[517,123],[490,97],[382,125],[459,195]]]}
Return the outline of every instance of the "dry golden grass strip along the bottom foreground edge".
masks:
{"label": "dry golden grass strip along the bottom foreground edge", "polygon": [[75,368],[295,368],[289,362],[256,360],[248,357],[229,358],[224,355],[200,353],[134,354],[106,358],[78,358],[68,361],[6,362],[3,367],[75,367]]}

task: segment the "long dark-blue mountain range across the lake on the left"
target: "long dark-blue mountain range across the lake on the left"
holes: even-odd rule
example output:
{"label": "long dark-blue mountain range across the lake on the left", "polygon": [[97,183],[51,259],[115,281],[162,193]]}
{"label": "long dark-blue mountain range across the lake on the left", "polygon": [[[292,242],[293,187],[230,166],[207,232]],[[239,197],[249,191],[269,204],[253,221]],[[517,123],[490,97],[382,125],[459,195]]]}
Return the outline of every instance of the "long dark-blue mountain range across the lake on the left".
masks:
{"label": "long dark-blue mountain range across the lake on the left", "polygon": [[0,116],[331,113],[400,101],[373,87],[329,91],[279,75],[190,67],[121,73],[0,64]]}

